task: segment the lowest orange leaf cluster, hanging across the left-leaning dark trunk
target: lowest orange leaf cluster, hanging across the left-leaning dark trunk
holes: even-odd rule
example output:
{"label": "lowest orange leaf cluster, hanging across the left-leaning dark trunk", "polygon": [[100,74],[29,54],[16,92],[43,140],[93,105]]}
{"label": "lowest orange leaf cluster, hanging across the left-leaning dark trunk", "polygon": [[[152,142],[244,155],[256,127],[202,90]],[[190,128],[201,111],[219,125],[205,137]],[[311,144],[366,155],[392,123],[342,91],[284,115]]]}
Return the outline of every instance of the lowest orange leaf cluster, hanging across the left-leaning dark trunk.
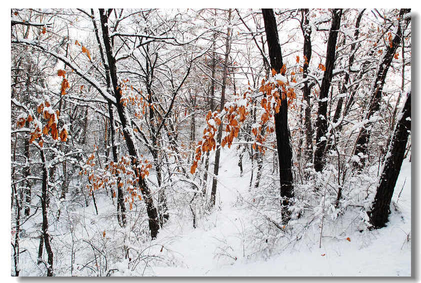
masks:
{"label": "lowest orange leaf cluster, hanging across the left-leaning dark trunk", "polygon": [[[128,156],[122,156],[118,162],[110,161],[103,169],[94,168],[95,163],[93,162],[94,155],[90,155],[83,166],[83,169],[79,172],[79,175],[87,175],[89,184],[86,185],[86,189],[89,190],[89,194],[92,191],[96,191],[99,188],[105,188],[105,186],[112,187],[117,184],[118,188],[123,188],[126,184],[126,191],[128,197],[124,198],[125,202],[129,203],[130,209],[134,203],[135,197],[141,200],[141,194],[137,190],[137,185],[140,176],[144,179],[149,175],[149,169],[152,165],[147,159],[143,162],[139,160],[140,168],[136,168],[136,172],[133,171],[130,158]],[[109,172],[109,174],[107,174]],[[137,174],[136,174],[137,173]],[[109,178],[109,176],[117,176],[118,178]],[[124,177],[124,180],[123,178]],[[115,197],[115,190],[112,190],[112,197]]]}

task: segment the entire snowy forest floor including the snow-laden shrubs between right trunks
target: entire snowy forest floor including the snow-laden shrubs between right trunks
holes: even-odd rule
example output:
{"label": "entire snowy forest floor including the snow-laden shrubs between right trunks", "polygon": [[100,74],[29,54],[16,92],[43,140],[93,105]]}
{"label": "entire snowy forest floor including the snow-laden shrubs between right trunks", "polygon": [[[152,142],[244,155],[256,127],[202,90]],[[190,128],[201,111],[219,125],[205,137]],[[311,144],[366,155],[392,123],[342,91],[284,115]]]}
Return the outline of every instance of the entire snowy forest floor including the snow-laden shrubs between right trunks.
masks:
{"label": "entire snowy forest floor including the snow-laden shrubs between right trunks", "polygon": [[[118,225],[115,205],[110,205],[111,199],[105,193],[97,194],[98,215],[92,203],[85,207],[82,198],[79,205],[72,207],[51,202],[52,207],[61,205],[60,221],[50,218],[49,227],[55,274],[410,275],[411,169],[407,159],[396,183],[387,227],[369,230],[365,211],[372,200],[376,168],[349,177],[337,209],[337,187],[331,179],[335,172],[326,170],[311,176],[308,182],[297,182],[292,220],[283,226],[276,172],[272,174],[270,164],[265,164],[260,186],[254,188],[253,182],[250,187],[252,168],[245,165],[240,176],[235,152],[221,151],[216,206],[206,212],[203,201],[194,203],[196,228],[192,227],[189,205],[194,192],[191,185],[178,182],[171,187],[170,218],[153,241],[146,232],[142,201],[136,201],[127,213],[126,228]],[[74,181],[73,186],[77,185]],[[29,252],[21,254],[22,275],[45,272],[44,264],[37,264],[34,256],[40,222],[36,217],[24,223],[21,246]]]}

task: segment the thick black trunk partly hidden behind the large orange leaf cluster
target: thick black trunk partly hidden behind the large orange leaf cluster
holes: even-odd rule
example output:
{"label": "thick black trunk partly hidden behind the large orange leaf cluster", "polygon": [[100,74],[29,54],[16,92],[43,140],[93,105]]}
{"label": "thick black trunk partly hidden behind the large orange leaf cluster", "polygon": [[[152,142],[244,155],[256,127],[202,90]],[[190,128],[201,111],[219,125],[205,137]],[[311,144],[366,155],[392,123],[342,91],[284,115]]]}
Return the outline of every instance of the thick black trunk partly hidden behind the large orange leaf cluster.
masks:
{"label": "thick black trunk partly hidden behind the large orange leaf cluster", "polygon": [[[276,19],[272,9],[261,9],[266,32],[267,46],[269,50],[270,67],[280,73],[282,68],[282,53],[280,50],[277,34]],[[282,74],[284,75],[284,74]],[[279,161],[279,182],[280,196],[282,197],[282,222],[289,221],[290,198],[293,197],[292,185],[292,148],[289,142],[290,134],[288,128],[288,105],[286,98],[282,99],[279,112],[274,115],[276,145]]]}

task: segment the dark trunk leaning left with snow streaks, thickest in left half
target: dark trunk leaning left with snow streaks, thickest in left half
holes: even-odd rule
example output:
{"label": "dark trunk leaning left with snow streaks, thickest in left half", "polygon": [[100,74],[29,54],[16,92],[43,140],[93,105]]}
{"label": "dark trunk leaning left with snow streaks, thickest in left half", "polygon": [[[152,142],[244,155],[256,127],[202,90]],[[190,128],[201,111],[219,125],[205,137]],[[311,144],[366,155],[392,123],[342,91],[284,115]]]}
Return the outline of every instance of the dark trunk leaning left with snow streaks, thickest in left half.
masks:
{"label": "dark trunk leaning left with snow streaks, thickest in left half", "polygon": [[[115,65],[115,58],[112,56],[112,49],[111,49],[111,44],[110,44],[109,34],[108,34],[108,17],[105,14],[104,9],[99,9],[99,15],[100,15],[100,21],[101,21],[102,38],[104,41],[105,54],[108,61],[109,74],[111,77],[112,87],[113,87],[114,96],[116,100],[115,106],[117,107],[118,117],[120,118],[120,121],[121,121],[121,126],[123,129],[123,135],[125,138],[127,150],[131,156],[131,163],[134,168],[137,168],[139,165],[139,154],[137,152],[137,148],[135,145],[134,134],[131,128],[129,116],[126,113],[126,109],[120,103],[121,94],[120,94],[120,88],[118,86],[118,80],[117,80],[117,69]],[[158,213],[153,203],[153,199],[152,199],[152,195],[151,195],[149,187],[146,185],[146,182],[144,181],[144,179],[140,176],[138,170],[134,170],[134,172],[136,173],[136,177],[139,179],[140,191],[146,203],[146,213],[149,217],[150,236],[152,239],[154,239],[156,238],[156,235],[158,234],[158,230],[159,230]]]}

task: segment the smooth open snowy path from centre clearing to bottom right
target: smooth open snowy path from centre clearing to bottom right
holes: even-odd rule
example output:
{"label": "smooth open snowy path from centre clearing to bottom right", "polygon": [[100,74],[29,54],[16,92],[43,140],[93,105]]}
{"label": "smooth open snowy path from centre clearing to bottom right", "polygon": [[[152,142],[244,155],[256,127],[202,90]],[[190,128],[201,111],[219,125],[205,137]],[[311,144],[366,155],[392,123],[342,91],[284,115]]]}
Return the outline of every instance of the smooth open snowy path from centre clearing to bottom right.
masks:
{"label": "smooth open snowy path from centre clearing to bottom right", "polygon": [[[405,160],[393,200],[402,187],[398,205],[402,214],[392,213],[388,227],[370,233],[349,235],[351,241],[303,239],[296,250],[285,250],[269,260],[242,258],[244,225],[248,212],[235,207],[238,194],[247,195],[249,175],[239,177],[235,155],[221,154],[218,184],[220,210],[196,229],[177,223],[161,232],[173,235],[165,245],[182,264],[154,266],[159,276],[410,276],[410,164]],[[405,181],[406,177],[406,181]],[[218,199],[218,200],[219,200]],[[403,217],[401,217],[403,216]],[[182,233],[180,233],[182,231]],[[322,256],[322,254],[324,254]],[[236,260],[235,257],[238,257]],[[311,266],[311,267],[310,267]]]}

